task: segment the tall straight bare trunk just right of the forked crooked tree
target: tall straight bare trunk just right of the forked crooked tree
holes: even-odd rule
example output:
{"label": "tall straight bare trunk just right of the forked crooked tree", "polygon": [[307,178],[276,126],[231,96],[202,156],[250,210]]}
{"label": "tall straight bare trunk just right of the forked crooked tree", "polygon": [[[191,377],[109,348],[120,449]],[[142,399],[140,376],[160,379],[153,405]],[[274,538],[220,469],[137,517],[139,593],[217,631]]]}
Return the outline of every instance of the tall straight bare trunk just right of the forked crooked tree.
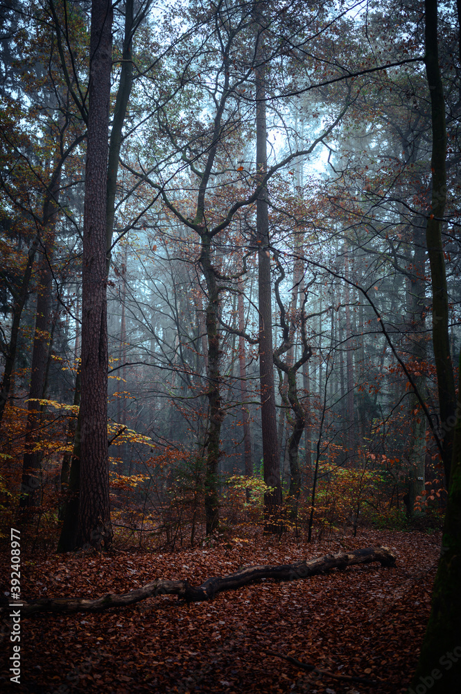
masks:
{"label": "tall straight bare trunk just right of the forked crooked tree", "polygon": [[[267,170],[266,143],[266,78],[261,41],[263,14],[261,1],[256,2],[256,171],[262,181]],[[256,242],[258,244],[258,299],[259,299],[259,378],[261,381],[261,429],[263,437],[264,482],[272,491],[264,495],[266,532],[279,532],[277,517],[281,512],[281,484],[279,471],[279,443],[277,441],[277,415],[275,412],[274,363],[272,348],[272,292],[270,286],[268,189],[261,187],[256,201]]]}

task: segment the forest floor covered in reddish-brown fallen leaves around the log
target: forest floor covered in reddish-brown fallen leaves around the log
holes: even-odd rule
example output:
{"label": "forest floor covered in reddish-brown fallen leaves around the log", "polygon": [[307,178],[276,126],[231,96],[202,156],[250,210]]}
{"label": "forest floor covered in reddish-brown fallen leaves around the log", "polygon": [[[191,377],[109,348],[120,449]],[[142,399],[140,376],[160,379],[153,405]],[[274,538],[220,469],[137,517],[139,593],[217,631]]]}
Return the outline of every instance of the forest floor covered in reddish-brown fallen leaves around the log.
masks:
{"label": "forest floor covered in reddish-brown fallen leaves around the log", "polygon": [[[238,529],[236,529],[238,533]],[[355,538],[281,543],[257,533],[214,547],[108,555],[21,557],[21,596],[96,598],[123,593],[157,577],[198,585],[251,564],[288,564],[306,557],[385,545],[395,568],[379,564],[333,570],[293,582],[266,580],[220,593],[209,602],[149,598],[98,614],[21,620],[21,684],[10,683],[12,655],[3,622],[0,689],[20,694],[367,694],[406,691],[430,611],[440,532],[362,530]],[[9,556],[0,574],[9,589]],[[6,647],[6,648],[5,648]],[[270,650],[351,684],[299,670]]]}

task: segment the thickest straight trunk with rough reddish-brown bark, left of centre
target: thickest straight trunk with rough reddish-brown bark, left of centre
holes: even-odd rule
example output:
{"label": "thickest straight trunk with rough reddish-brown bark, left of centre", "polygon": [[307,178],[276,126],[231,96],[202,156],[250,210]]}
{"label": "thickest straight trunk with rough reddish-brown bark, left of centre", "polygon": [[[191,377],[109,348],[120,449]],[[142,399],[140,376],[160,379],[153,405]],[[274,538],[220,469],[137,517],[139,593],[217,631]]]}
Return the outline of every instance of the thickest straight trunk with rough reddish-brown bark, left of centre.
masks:
{"label": "thickest straight trunk with rough reddish-brown bark, left of centre", "polygon": [[112,4],[92,1],[82,257],[79,547],[112,543],[107,452],[107,141]]}

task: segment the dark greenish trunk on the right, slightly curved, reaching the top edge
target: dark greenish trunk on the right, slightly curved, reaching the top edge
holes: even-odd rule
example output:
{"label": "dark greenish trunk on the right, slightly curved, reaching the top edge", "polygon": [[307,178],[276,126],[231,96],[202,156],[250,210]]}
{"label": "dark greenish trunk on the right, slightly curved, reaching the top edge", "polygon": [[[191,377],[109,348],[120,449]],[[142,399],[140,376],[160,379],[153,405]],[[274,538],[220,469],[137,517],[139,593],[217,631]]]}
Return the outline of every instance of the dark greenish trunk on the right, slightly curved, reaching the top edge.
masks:
{"label": "dark greenish trunk on the right, slightly curved, reaching the top edge", "polygon": [[431,214],[426,226],[426,244],[432,282],[432,339],[437,371],[442,458],[446,488],[449,489],[456,396],[449,340],[449,296],[442,244],[442,219],[446,204],[445,99],[437,46],[437,0],[426,0],[425,8],[426,74],[432,115],[432,199]]}

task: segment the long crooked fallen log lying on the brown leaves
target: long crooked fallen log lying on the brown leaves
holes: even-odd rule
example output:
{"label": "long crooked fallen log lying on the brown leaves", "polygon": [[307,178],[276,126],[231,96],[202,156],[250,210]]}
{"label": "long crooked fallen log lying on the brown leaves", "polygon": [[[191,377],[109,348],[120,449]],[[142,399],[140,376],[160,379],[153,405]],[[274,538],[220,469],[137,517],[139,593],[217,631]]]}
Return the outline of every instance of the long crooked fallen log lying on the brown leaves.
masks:
{"label": "long crooked fallen log lying on the brown leaves", "polygon": [[[74,612],[100,612],[112,607],[127,605],[146,600],[157,595],[177,595],[186,602],[209,600],[222,591],[235,590],[241,586],[257,583],[261,579],[272,578],[276,581],[294,581],[324,573],[333,568],[340,570],[355,564],[370,564],[379,561],[381,566],[394,566],[396,555],[387,547],[368,547],[354,552],[338,552],[317,559],[304,559],[295,564],[281,566],[247,566],[228,576],[215,576],[207,579],[201,586],[191,586],[186,580],[168,581],[156,579],[142,588],[116,595],[108,593],[103,598],[87,600],[85,598],[44,598],[40,600],[18,600],[15,607],[21,617],[30,617],[40,613],[71,614]],[[0,613],[7,614],[10,607],[2,607]]]}

